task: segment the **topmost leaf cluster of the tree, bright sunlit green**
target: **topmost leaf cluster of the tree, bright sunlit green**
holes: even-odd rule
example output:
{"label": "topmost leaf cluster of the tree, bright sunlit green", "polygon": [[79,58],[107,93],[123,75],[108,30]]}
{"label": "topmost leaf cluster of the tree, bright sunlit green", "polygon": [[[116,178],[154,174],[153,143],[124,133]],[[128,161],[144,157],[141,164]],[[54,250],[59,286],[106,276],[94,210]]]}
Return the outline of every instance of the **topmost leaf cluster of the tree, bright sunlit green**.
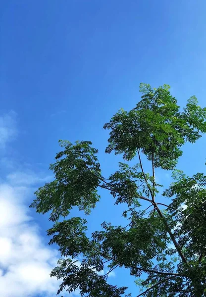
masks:
{"label": "topmost leaf cluster of the tree, bright sunlit green", "polygon": [[155,167],[173,169],[182,155],[182,145],[194,143],[206,132],[206,108],[198,106],[193,97],[180,112],[167,85],[152,90],[141,84],[140,92],[144,95],[134,109],[121,109],[104,125],[111,130],[106,152],[114,150],[131,160],[140,149],[149,160],[154,155]]}

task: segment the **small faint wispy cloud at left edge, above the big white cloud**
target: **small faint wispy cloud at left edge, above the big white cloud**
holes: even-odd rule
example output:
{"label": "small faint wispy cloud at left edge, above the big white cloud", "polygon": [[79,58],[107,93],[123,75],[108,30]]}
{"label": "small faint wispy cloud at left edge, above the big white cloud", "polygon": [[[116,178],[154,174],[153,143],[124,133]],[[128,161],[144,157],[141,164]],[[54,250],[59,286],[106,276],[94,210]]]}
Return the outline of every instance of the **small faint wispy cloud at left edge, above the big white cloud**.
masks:
{"label": "small faint wispy cloud at left edge, above the big white cloud", "polygon": [[0,116],[0,148],[15,139],[17,135],[16,129],[16,113],[10,111]]}

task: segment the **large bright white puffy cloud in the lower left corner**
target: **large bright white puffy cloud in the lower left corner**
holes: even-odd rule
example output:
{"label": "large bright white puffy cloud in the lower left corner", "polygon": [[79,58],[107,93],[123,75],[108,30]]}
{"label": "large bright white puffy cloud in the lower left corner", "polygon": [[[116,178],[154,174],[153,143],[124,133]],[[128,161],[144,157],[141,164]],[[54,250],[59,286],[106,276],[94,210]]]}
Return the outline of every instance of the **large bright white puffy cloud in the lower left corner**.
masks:
{"label": "large bright white puffy cloud in the lower left corner", "polygon": [[0,296],[53,296],[58,282],[50,272],[57,251],[43,243],[38,226],[18,201],[16,188],[0,186]]}

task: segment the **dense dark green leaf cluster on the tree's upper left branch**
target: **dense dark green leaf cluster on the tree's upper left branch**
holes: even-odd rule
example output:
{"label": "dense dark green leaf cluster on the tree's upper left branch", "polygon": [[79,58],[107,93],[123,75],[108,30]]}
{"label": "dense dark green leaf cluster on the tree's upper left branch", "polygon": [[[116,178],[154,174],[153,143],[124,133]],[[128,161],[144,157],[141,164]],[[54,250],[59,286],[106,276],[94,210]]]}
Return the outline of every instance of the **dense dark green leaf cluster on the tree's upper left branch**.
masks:
{"label": "dense dark green leaf cluster on the tree's upper left branch", "polygon": [[101,176],[96,155],[98,150],[91,145],[85,141],[75,145],[60,142],[64,150],[56,154],[56,162],[50,166],[55,179],[35,193],[36,199],[31,207],[35,207],[37,212],[51,211],[51,221],[66,217],[74,206],[90,213],[100,198],[97,187]]}

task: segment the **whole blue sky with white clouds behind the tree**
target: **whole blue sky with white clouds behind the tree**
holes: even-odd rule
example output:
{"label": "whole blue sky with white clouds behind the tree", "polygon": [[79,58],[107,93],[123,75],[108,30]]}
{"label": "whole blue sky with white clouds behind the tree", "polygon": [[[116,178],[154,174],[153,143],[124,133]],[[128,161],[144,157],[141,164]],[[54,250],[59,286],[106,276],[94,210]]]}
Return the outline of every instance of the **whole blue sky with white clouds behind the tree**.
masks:
{"label": "whole blue sky with white clouds behind the tree", "polygon": [[[204,106],[205,15],[205,0],[0,1],[2,297],[55,292],[55,283],[44,276],[57,256],[47,247],[47,216],[27,212],[27,207],[32,193],[51,178],[48,166],[59,139],[93,141],[108,175],[120,158],[104,154],[108,133],[103,124],[120,107],[135,106],[140,82],[170,84],[181,106],[192,95]],[[203,138],[185,146],[178,168],[187,174],[204,172],[205,145]],[[169,182],[164,173],[158,178]],[[121,222],[121,209],[114,214],[112,202],[103,194],[90,230],[98,229],[105,216]],[[26,257],[16,256],[12,264],[8,251],[17,248]],[[41,255],[39,260],[34,253]],[[34,281],[40,270],[44,282]],[[19,290],[3,286],[11,281]],[[138,293],[119,270],[111,282],[131,285],[134,296]]]}

